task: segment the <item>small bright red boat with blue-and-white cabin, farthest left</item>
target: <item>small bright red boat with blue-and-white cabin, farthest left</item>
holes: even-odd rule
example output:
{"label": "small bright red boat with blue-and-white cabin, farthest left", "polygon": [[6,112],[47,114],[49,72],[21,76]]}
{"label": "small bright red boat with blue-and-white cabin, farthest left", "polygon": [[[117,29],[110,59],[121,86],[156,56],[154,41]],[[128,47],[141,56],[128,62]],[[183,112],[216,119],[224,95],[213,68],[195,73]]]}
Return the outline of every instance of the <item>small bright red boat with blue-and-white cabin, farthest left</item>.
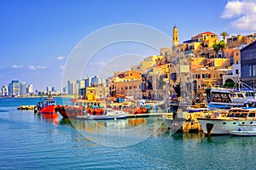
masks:
{"label": "small bright red boat with blue-and-white cabin, farthest left", "polygon": [[38,102],[34,109],[34,113],[39,113],[46,118],[57,118],[58,111],[56,110],[56,100],[48,97],[43,102]]}

